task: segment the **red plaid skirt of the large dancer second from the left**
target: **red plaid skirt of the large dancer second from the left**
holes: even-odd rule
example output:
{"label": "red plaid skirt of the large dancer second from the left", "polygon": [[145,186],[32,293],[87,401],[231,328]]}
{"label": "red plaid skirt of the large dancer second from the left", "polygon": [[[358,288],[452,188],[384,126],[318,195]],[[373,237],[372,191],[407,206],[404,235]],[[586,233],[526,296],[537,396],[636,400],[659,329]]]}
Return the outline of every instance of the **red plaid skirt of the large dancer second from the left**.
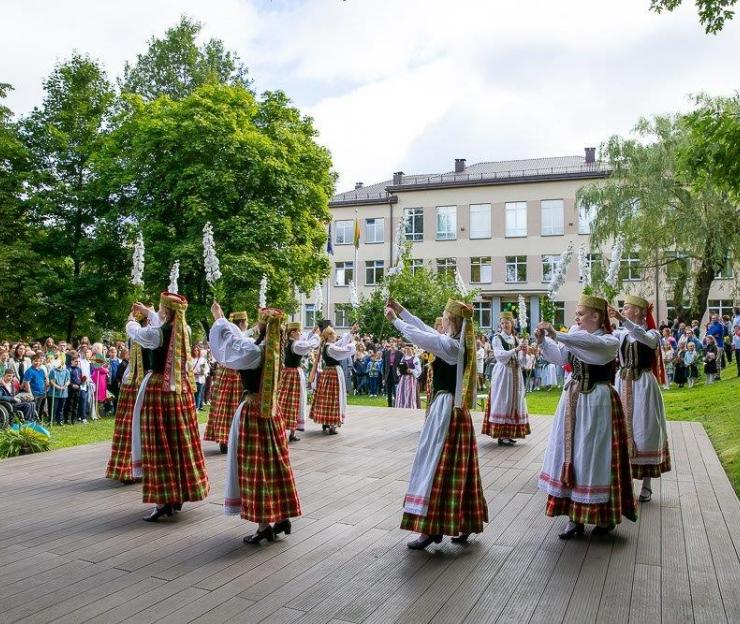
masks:
{"label": "red plaid skirt of the large dancer second from the left", "polygon": [[181,394],[164,390],[154,374],[141,408],[141,459],[145,503],[184,503],[208,496],[206,460],[189,384]]}

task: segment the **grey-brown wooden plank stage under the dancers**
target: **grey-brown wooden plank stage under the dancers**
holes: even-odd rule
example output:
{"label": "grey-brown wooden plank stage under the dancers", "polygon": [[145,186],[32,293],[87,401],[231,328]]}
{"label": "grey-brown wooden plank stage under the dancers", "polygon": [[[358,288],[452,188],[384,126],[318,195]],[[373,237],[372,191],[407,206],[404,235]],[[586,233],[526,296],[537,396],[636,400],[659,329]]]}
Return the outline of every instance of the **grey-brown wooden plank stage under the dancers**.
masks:
{"label": "grey-brown wooden plank stage under the dancers", "polygon": [[[143,522],[140,486],[103,478],[109,444],[0,461],[0,622],[740,622],[740,503],[695,423],[638,523],[563,542],[536,480],[550,418],[516,447],[479,438],[491,523],[466,547],[409,551],[398,528],[422,412],[350,408],[291,445],[304,516],[274,544],[210,498]],[[480,430],[481,415],[475,415]]]}

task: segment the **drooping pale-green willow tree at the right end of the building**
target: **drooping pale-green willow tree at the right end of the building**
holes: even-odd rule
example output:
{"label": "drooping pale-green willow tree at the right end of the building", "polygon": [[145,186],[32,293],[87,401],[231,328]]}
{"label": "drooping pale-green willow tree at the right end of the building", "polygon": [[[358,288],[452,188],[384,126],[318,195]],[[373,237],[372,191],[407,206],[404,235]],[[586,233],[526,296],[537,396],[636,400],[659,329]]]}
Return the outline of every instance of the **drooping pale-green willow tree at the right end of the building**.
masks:
{"label": "drooping pale-green willow tree at the right end of the building", "polygon": [[691,138],[681,116],[642,119],[634,132],[637,138],[614,136],[601,146],[611,176],[578,193],[577,201],[597,208],[592,246],[622,236],[643,269],[669,272],[678,317],[701,319],[715,275],[738,258],[737,208],[716,187],[695,189],[678,166]]}

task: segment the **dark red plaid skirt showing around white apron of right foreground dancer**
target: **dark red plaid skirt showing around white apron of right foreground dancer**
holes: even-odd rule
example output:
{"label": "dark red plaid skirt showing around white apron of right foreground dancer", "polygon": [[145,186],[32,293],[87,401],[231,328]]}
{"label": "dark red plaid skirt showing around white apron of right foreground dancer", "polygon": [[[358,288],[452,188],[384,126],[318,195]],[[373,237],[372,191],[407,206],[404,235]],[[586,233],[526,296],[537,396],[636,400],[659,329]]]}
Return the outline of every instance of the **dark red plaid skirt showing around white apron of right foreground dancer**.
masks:
{"label": "dark red plaid skirt showing around white apron of right foreground dancer", "polygon": [[576,503],[569,498],[549,495],[545,513],[548,516],[568,516],[573,522],[616,526],[622,516],[637,521],[637,504],[632,491],[627,429],[622,403],[612,388],[612,466],[609,501],[606,503]]}

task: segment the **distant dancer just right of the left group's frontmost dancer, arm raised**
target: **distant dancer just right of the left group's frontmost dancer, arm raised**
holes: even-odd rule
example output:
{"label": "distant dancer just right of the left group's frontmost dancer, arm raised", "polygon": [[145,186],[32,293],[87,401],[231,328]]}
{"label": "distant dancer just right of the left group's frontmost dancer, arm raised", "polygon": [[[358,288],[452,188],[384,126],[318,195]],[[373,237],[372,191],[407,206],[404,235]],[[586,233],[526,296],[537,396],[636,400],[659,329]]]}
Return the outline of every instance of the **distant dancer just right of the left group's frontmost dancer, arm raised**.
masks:
{"label": "distant dancer just right of the left group's frontmost dancer, arm raised", "polygon": [[285,429],[290,432],[289,442],[298,442],[296,430],[303,431],[308,412],[306,374],[301,368],[303,356],[318,348],[321,339],[318,327],[301,336],[300,323],[288,323],[285,326],[288,339],[283,352],[283,372],[280,375],[278,405],[283,417]]}

